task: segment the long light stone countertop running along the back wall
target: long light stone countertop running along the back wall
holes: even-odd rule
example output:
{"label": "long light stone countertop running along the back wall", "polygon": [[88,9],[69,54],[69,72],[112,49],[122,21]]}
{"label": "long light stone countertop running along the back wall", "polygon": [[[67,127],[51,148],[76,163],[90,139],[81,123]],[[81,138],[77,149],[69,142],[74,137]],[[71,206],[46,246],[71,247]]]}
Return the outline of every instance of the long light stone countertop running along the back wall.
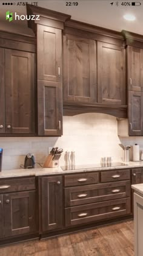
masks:
{"label": "long light stone countertop running along the back wall", "polygon": [[142,162],[129,162],[128,165],[125,166],[114,166],[114,167],[100,167],[100,168],[91,168],[91,169],[76,169],[76,170],[68,170],[62,171],[61,167],[58,168],[35,168],[35,169],[10,169],[10,170],[2,170],[0,172],[1,178],[8,177],[22,177],[22,176],[42,176],[42,175],[58,175],[58,174],[69,174],[69,173],[78,173],[78,172],[88,172],[88,171],[105,171],[105,170],[113,170],[113,169],[128,169],[128,168],[139,168],[143,167]]}

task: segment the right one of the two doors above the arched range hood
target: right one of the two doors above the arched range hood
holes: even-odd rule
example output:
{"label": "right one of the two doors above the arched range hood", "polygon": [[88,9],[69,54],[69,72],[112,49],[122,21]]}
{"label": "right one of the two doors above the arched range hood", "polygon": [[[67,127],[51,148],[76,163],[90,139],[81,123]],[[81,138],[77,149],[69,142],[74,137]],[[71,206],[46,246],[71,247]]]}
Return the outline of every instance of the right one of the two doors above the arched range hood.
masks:
{"label": "right one of the two doors above the arched range hood", "polygon": [[98,42],[98,102],[125,104],[125,49]]}

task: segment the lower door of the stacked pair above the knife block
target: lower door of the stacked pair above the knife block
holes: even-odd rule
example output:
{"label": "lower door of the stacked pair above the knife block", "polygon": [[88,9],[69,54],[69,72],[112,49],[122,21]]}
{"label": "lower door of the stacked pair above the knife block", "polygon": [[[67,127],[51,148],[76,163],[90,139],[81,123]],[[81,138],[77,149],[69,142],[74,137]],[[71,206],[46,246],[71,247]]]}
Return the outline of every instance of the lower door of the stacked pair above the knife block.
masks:
{"label": "lower door of the stacked pair above the knife block", "polygon": [[38,135],[62,135],[61,83],[38,80]]}

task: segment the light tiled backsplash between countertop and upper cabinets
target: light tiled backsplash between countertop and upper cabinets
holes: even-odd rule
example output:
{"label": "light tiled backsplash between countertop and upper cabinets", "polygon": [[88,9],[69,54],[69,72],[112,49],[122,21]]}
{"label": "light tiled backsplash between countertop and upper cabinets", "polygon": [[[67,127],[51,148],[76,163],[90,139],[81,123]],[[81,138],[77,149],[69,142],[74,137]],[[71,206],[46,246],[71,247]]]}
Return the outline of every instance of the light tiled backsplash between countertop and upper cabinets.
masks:
{"label": "light tiled backsplash between countertop and upper cabinets", "polygon": [[[134,144],[140,138],[121,138],[117,133],[114,116],[101,113],[85,113],[64,116],[62,137],[7,137],[0,138],[0,148],[4,149],[2,169],[17,169],[24,164],[28,152],[35,155],[36,162],[43,163],[48,147],[58,146],[65,151],[75,151],[76,164],[99,163],[101,157],[112,157],[113,161],[122,160],[119,143]],[[142,137],[143,145],[143,137]],[[64,153],[60,165],[64,165]],[[38,166],[37,166],[38,167]]]}

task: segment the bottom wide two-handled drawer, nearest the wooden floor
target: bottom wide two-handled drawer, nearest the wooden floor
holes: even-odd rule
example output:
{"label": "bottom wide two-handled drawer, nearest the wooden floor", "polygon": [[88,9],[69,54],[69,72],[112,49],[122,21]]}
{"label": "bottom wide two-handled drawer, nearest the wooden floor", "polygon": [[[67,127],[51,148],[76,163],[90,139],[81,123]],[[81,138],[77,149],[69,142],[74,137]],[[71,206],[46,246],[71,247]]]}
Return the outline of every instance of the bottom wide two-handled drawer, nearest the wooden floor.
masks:
{"label": "bottom wide two-handled drawer, nearest the wooden floor", "polygon": [[130,198],[65,208],[65,226],[86,224],[130,214]]}

